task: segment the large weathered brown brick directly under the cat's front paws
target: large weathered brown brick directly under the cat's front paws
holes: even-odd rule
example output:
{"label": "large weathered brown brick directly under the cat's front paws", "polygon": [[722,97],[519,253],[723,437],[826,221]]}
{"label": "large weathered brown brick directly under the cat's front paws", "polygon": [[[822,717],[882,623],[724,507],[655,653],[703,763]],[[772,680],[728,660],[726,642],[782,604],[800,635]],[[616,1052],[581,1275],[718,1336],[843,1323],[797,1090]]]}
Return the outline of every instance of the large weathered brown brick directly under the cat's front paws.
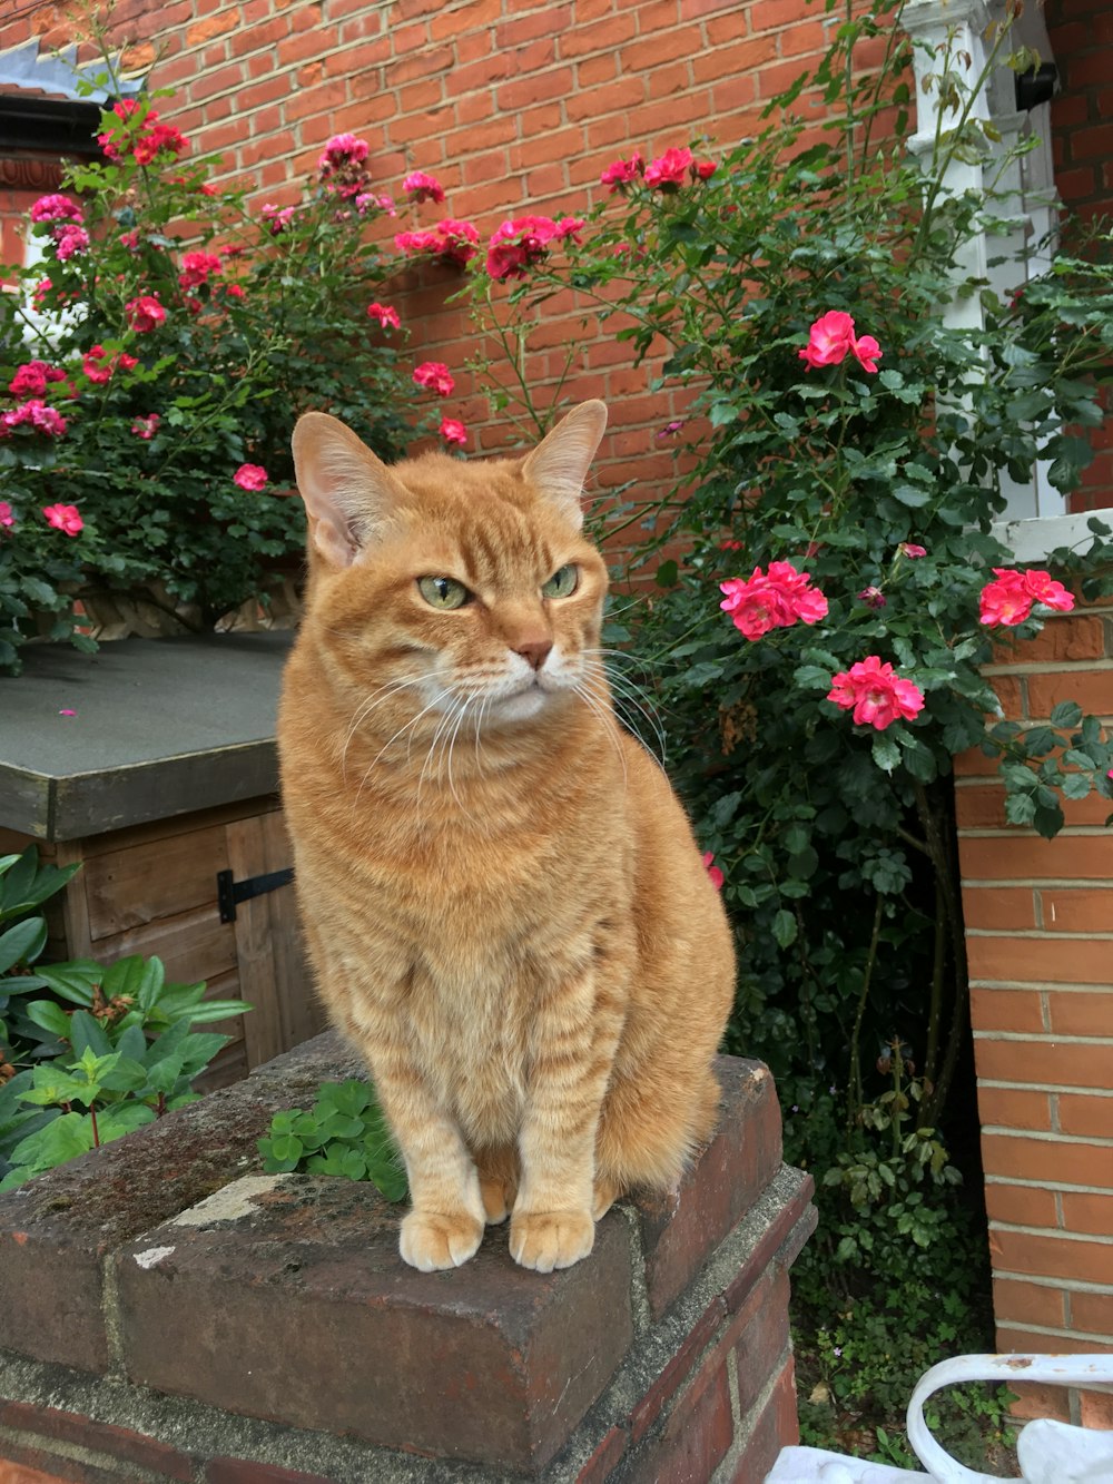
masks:
{"label": "large weathered brown brick directly under the cat's front paws", "polygon": [[[398,1255],[398,1209],[371,1186],[294,1175],[230,1206],[239,1189],[117,1255],[132,1380],[384,1447],[536,1468],[629,1345],[617,1212],[591,1261],[564,1272],[516,1267],[503,1227],[464,1267],[418,1273]],[[275,1343],[260,1343],[269,1333]],[[329,1385],[306,1388],[307,1374]],[[456,1396],[445,1376],[459,1376]]]}

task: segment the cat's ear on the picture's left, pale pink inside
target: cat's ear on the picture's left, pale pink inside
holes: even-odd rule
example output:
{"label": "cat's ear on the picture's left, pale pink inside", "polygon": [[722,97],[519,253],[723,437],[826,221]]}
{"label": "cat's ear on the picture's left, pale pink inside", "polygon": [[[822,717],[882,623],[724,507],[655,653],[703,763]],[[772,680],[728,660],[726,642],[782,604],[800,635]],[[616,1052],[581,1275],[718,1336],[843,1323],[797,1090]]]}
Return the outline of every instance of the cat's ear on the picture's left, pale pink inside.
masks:
{"label": "cat's ear on the picture's left, pale pink inside", "polygon": [[292,448],[310,545],[329,567],[350,567],[387,525],[402,491],[367,444],[328,413],[304,413]]}

